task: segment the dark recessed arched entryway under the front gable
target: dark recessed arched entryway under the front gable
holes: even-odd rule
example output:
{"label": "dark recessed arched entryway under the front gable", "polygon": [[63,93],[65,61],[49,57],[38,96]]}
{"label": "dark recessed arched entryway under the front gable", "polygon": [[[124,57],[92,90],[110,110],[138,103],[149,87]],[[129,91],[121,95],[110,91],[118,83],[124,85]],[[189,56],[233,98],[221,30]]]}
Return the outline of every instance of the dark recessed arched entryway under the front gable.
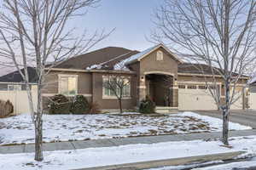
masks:
{"label": "dark recessed arched entryway under the front gable", "polygon": [[160,73],[148,73],[146,78],[146,95],[157,106],[173,106],[173,76]]}

